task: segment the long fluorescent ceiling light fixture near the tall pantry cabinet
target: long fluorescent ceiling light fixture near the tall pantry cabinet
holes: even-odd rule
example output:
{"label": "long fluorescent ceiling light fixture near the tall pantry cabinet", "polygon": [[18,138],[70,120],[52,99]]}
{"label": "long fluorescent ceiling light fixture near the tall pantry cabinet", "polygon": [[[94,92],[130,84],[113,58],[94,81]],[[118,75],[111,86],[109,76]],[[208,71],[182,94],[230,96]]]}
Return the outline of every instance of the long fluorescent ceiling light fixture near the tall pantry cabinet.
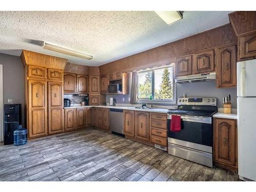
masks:
{"label": "long fluorescent ceiling light fixture near the tall pantry cabinet", "polygon": [[74,57],[80,57],[80,58],[83,58],[83,59],[89,59],[90,60],[90,59],[93,58],[92,55],[88,55],[86,53],[82,53],[82,52],[79,52],[79,51],[75,51],[75,50],[55,46],[55,45],[52,45],[52,44],[48,44],[48,42],[44,42],[44,45],[42,46],[42,48],[48,49],[48,50],[51,50],[51,51],[55,51],[55,52],[58,52],[58,53],[63,53],[63,54],[66,54],[66,55],[71,55],[71,56],[74,56]]}

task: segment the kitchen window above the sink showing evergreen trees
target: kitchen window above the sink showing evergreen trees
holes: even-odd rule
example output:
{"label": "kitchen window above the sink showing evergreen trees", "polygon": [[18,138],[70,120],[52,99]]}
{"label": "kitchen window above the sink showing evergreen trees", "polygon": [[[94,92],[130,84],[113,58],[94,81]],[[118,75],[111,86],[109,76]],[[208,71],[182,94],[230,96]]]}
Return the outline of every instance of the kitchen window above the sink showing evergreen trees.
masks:
{"label": "kitchen window above the sink showing evergreen trees", "polygon": [[138,72],[139,102],[175,103],[173,65]]}

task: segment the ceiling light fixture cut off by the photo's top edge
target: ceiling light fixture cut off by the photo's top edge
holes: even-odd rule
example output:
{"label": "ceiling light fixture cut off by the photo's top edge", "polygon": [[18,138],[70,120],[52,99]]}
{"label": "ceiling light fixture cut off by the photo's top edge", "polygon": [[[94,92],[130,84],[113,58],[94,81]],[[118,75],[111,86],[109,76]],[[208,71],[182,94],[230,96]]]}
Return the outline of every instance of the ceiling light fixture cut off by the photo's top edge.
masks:
{"label": "ceiling light fixture cut off by the photo's top edge", "polygon": [[155,11],[161,19],[167,24],[171,25],[183,18],[183,14],[180,11]]}

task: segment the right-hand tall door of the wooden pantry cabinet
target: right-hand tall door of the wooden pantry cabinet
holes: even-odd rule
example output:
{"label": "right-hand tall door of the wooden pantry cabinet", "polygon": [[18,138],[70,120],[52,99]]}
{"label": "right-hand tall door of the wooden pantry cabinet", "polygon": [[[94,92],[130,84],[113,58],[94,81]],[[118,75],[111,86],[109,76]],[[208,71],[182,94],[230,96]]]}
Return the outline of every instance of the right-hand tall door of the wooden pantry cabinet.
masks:
{"label": "right-hand tall door of the wooden pantry cabinet", "polygon": [[63,84],[48,82],[48,131],[49,134],[63,131]]}

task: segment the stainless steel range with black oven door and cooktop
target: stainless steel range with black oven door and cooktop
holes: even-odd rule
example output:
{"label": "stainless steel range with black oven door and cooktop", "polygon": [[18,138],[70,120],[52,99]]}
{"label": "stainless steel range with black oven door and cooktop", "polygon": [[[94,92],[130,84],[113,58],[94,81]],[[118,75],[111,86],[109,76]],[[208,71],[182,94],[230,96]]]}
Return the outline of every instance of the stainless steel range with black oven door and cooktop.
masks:
{"label": "stainless steel range with black oven door and cooktop", "polygon": [[[168,153],[212,167],[212,115],[216,98],[179,98],[178,109],[168,111]],[[170,131],[172,115],[181,116],[181,131]]]}

